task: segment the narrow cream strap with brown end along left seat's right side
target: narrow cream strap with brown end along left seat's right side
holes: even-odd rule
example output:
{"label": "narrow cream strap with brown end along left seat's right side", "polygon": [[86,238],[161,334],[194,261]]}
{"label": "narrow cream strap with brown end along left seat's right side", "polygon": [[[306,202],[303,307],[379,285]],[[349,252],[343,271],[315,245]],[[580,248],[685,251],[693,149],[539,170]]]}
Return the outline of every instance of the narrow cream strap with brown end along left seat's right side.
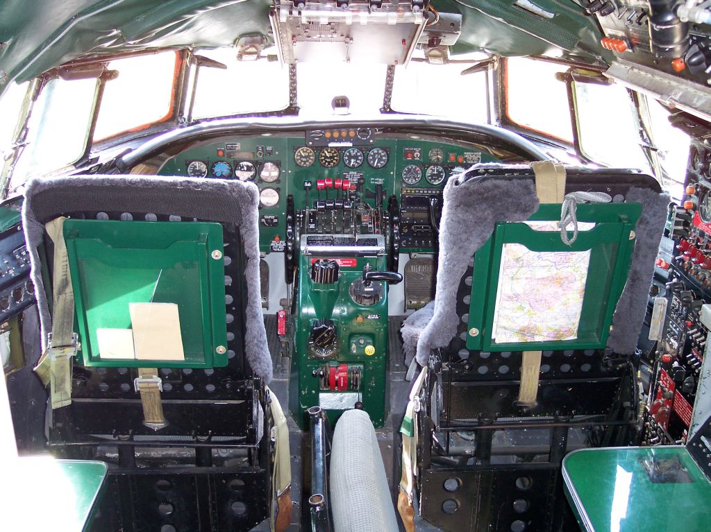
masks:
{"label": "narrow cream strap with brown end along left seat's right side", "polygon": [[272,504],[272,519],[269,527],[272,532],[284,532],[292,521],[292,456],[289,448],[289,426],[284,416],[282,404],[277,394],[264,386],[269,397],[267,414],[272,416],[272,443],[274,445],[274,469],[272,470],[272,489],[275,495]]}

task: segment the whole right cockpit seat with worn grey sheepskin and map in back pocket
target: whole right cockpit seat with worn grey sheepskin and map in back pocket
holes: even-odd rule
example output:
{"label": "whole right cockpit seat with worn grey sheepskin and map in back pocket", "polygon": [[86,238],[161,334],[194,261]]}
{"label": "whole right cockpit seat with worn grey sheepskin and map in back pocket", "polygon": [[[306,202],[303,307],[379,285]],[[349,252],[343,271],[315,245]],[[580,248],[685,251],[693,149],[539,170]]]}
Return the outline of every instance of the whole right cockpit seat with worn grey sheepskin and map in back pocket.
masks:
{"label": "whole right cockpit seat with worn grey sheepskin and map in back pocket", "polygon": [[634,438],[667,204],[632,170],[474,165],[450,180],[434,304],[405,322],[421,368],[401,508],[444,531],[574,523],[563,457]]}

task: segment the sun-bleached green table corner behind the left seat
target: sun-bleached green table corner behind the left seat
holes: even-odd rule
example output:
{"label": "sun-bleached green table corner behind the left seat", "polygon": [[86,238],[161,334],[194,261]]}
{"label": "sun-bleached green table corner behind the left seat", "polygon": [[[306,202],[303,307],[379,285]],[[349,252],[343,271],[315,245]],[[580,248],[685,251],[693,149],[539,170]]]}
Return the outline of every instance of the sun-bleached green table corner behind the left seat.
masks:
{"label": "sun-bleached green table corner behind the left seat", "polygon": [[82,532],[88,528],[107,465],[50,457],[4,458],[0,530]]}

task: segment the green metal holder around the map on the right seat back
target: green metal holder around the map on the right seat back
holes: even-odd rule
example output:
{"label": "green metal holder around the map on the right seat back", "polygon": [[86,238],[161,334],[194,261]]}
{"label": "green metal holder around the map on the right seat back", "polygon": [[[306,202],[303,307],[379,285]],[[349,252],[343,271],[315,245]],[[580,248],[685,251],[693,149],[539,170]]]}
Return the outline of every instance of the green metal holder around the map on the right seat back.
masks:
{"label": "green metal holder around the map on the right seat back", "polygon": [[[636,203],[578,205],[578,222],[594,222],[595,227],[579,231],[577,240],[570,246],[562,242],[560,232],[557,231],[536,231],[525,223],[497,224],[494,233],[477,251],[474,259],[466,347],[485,351],[602,349],[609,335],[617,300],[626,283],[634,249],[634,239],[630,235],[640,215],[641,205]],[[529,221],[558,219],[560,205],[549,204],[541,205]],[[574,339],[496,341],[496,307],[499,303],[501,261],[506,244],[523,244],[530,251],[544,253],[589,251],[582,309]]]}

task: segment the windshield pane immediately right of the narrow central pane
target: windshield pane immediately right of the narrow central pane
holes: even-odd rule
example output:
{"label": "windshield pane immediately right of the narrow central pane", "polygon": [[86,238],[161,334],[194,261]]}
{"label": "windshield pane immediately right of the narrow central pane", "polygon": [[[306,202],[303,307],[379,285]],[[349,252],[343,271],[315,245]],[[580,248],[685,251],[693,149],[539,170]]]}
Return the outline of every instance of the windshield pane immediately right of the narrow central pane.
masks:
{"label": "windshield pane immediately right of the narrow central pane", "polygon": [[[481,60],[486,56],[477,56]],[[459,57],[461,60],[462,57]],[[430,65],[412,62],[395,67],[390,106],[409,114],[445,116],[456,121],[486,124],[488,121],[485,71],[461,75],[467,63]]]}

